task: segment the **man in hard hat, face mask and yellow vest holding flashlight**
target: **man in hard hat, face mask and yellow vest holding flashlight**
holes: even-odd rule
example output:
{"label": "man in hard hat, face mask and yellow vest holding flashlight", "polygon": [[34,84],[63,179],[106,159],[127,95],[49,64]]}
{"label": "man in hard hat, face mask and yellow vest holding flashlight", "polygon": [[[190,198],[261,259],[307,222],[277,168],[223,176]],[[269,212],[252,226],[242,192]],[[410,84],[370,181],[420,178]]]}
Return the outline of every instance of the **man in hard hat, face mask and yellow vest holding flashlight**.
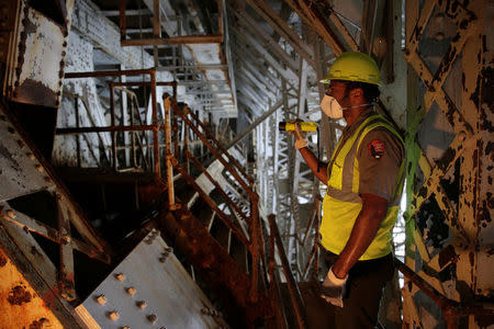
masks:
{"label": "man in hard hat, face mask and yellow vest holding flashlight", "polygon": [[336,328],[374,328],[382,288],[393,276],[391,229],[404,181],[403,140],[373,111],[380,81],[371,57],[345,53],[321,82],[328,84],[322,111],[347,123],[329,163],[318,163],[300,128],[294,132],[295,148],[327,184],[319,234],[329,271],[321,297],[336,306]]}

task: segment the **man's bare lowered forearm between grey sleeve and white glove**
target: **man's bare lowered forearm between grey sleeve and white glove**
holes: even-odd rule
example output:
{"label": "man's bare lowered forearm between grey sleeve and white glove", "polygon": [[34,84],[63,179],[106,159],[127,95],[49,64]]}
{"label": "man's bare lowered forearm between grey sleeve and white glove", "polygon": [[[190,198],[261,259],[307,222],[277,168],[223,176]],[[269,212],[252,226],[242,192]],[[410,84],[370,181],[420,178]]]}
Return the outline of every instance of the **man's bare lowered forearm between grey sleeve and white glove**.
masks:
{"label": "man's bare lowered forearm between grey sleeve and white glove", "polygon": [[333,265],[337,277],[345,277],[366,252],[388,212],[388,200],[375,194],[362,194],[362,209],[351,229],[350,238]]}

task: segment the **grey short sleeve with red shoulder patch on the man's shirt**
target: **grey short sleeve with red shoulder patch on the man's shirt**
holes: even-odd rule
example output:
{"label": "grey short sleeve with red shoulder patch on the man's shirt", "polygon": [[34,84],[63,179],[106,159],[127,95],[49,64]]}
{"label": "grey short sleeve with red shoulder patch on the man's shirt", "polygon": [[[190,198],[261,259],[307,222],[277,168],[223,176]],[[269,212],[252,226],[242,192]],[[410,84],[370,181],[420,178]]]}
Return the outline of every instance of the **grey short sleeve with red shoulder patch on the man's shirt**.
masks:
{"label": "grey short sleeve with red shoulder patch on the man's shirt", "polygon": [[386,128],[374,128],[360,143],[357,159],[359,193],[375,194],[392,202],[391,194],[404,159],[400,139]]}

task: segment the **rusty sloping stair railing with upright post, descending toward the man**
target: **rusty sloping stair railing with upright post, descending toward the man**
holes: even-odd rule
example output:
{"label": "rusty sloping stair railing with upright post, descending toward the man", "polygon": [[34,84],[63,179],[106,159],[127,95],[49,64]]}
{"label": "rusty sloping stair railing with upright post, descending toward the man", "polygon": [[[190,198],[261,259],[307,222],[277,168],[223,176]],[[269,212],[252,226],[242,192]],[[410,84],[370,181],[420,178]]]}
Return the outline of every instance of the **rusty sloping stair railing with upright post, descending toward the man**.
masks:
{"label": "rusty sloping stair railing with upright post, descending toward the man", "polygon": [[[217,139],[209,132],[207,127],[190,111],[187,105],[182,107],[171,99],[170,95],[164,94],[165,104],[165,132],[166,132],[166,171],[168,182],[168,202],[170,209],[177,208],[175,200],[173,169],[194,189],[197,193],[207,203],[217,217],[232,230],[236,238],[245,245],[250,254],[250,291],[249,300],[255,302],[259,294],[259,269],[261,265],[261,257],[263,256],[261,227],[259,219],[259,195],[254,191],[254,181],[247,175],[242,166],[229,155],[226,149],[217,141]],[[173,116],[173,118],[172,118]],[[177,144],[171,146],[172,140],[178,141],[177,132],[172,129],[171,122],[181,123],[195,135],[203,146],[214,156],[214,158],[224,166],[225,170],[235,178],[236,183],[242,186],[249,197],[250,212],[246,214],[224,191],[221,183],[215,179],[188,148],[188,141],[184,140],[184,147],[179,148]],[[177,124],[175,124],[177,126]],[[175,133],[175,136],[172,136]],[[187,134],[186,134],[187,135]],[[183,159],[183,161],[180,161]],[[207,192],[198,184],[191,175],[191,167],[195,168],[200,173],[204,174],[207,181],[214,185],[216,192],[225,200],[227,205],[238,214],[238,217],[245,222],[248,227],[247,234],[242,230],[243,224],[235,223],[231,217],[220,208],[218,204],[209,195]],[[182,206],[182,205],[181,205]]]}

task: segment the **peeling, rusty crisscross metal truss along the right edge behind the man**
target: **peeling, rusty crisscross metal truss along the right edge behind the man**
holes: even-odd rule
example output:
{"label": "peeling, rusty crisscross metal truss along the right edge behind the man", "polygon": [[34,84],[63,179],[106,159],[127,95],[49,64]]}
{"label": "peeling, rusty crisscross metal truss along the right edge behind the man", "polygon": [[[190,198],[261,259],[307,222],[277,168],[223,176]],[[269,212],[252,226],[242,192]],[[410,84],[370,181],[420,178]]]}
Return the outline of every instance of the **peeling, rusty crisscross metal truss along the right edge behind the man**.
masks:
{"label": "peeling, rusty crisscross metal truss along the right edge behind the man", "polygon": [[[425,1],[420,11],[415,1],[406,1],[406,5],[405,59],[414,70],[408,73],[408,81],[412,84],[406,139],[409,168],[406,263],[409,268],[416,269],[418,274],[444,296],[464,302],[470,299],[468,297],[470,294],[486,296],[489,286],[492,286],[492,280],[489,280],[490,282],[483,280],[483,276],[492,271],[487,269],[492,269],[493,265],[492,259],[485,256],[485,243],[489,243],[485,234],[490,227],[492,228],[492,224],[487,224],[485,218],[490,218],[491,215],[481,214],[486,211],[483,204],[489,198],[487,189],[491,183],[487,182],[492,180],[492,167],[489,169],[484,164],[490,162],[489,151],[485,151],[484,145],[489,135],[486,127],[492,123],[493,114],[492,111],[486,111],[489,101],[485,94],[479,92],[492,89],[492,81],[485,79],[486,71],[492,70],[492,63],[487,64],[487,58],[492,57],[492,49],[487,49],[482,42],[487,32],[487,25],[484,24],[489,22],[484,22],[483,19],[487,3],[473,1],[451,5],[450,2],[431,0]],[[448,25],[433,25],[431,21]],[[420,48],[424,38],[431,37],[434,26],[453,26],[454,35],[446,53],[441,54],[435,72],[430,69],[427,53]],[[436,41],[440,43],[444,34],[435,33]],[[423,55],[424,53],[426,55]],[[462,81],[461,83],[458,81],[459,88],[447,92],[445,82],[448,78],[451,79],[453,73],[454,76],[460,73]],[[425,89],[423,97],[419,97],[417,87],[414,91],[413,82],[417,80]],[[454,137],[442,156],[431,161],[417,141],[417,132],[420,125],[426,124],[424,118],[435,104],[451,125]],[[417,184],[420,180],[423,183]],[[453,182],[458,183],[457,190],[447,191],[446,186]],[[418,228],[424,225],[420,224],[423,220],[420,216],[426,212],[425,205],[433,202],[440,212],[433,215],[431,223],[445,220],[449,228],[448,239],[436,248],[427,247],[431,245],[434,237]],[[445,272],[451,273],[447,281],[440,280],[439,273]],[[467,287],[460,286],[460,283]],[[430,326],[422,315],[420,306],[426,302],[414,297],[417,288],[405,285],[402,293],[404,321],[409,326],[425,328]],[[469,316],[469,328],[478,328],[479,320],[482,319],[474,313],[451,314],[444,310],[448,328],[454,328],[461,316]],[[433,321],[441,319],[436,318]]]}

